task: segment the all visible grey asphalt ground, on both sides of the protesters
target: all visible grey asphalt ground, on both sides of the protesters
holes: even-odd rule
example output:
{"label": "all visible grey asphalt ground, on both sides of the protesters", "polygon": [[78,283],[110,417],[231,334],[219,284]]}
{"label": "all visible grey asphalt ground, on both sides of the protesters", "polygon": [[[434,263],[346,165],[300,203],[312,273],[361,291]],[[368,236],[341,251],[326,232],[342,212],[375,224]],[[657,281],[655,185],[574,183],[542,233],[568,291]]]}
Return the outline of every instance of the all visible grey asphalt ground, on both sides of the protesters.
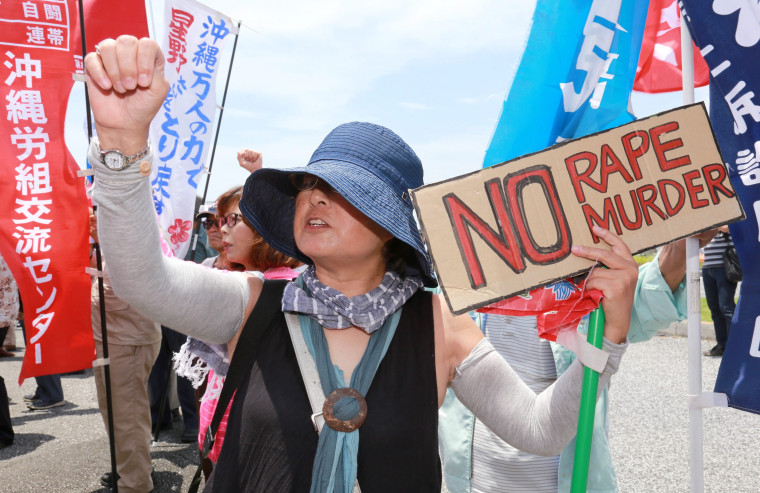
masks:
{"label": "all visible grey asphalt ground, on both sides of the protesters", "polygon": [[[713,343],[703,340],[702,347]],[[686,348],[686,339],[677,336],[631,345],[613,379],[610,441],[621,492],[690,489]],[[22,353],[17,354],[0,358],[16,431],[15,443],[0,450],[0,492],[105,493],[99,478],[110,469],[108,438],[92,371],[63,377],[64,407],[32,412],[22,396],[33,392],[34,380],[17,385]],[[705,390],[712,389],[719,363],[702,358]],[[705,491],[760,491],[759,431],[760,416],[733,409],[704,411]],[[193,445],[180,443],[181,433],[181,424],[162,432],[153,448],[157,493],[187,491],[196,455]]]}

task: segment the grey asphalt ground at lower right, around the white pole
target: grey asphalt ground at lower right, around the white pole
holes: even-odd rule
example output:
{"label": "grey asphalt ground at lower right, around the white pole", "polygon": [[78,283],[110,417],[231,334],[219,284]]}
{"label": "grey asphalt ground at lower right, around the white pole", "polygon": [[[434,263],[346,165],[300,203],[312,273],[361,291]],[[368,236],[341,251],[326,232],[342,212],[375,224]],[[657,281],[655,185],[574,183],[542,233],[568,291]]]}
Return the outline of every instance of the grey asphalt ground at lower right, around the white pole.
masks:
{"label": "grey asphalt ground at lower right, around the white pole", "polygon": [[[702,350],[714,344],[703,339]],[[610,446],[621,492],[690,491],[686,365],[685,337],[655,337],[631,344],[613,377]],[[719,365],[702,357],[703,391],[713,390]],[[760,491],[760,416],[711,408],[703,423],[704,491]]]}

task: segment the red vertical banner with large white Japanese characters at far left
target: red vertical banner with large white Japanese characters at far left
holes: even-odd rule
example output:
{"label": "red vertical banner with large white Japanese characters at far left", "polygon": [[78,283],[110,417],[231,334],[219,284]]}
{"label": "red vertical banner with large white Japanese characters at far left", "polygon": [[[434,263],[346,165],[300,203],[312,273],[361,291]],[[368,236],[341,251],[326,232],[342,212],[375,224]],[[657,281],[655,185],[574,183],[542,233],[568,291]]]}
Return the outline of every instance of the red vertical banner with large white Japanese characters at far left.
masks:
{"label": "red vertical banner with large white Japanese characters at far left", "polygon": [[77,18],[76,0],[0,2],[0,252],[24,302],[19,382],[89,368],[95,352],[87,197],[64,142]]}

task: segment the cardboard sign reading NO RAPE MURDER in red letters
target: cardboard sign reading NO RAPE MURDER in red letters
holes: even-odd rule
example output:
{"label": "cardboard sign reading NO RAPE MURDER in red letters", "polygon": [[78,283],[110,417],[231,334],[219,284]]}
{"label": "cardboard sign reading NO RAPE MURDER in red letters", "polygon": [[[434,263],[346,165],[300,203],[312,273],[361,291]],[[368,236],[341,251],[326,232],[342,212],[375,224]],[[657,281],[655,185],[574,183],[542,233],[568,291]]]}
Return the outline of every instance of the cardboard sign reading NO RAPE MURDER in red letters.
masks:
{"label": "cardboard sign reading NO RAPE MURDER in red letters", "polygon": [[573,244],[638,253],[743,218],[703,104],[412,192],[454,313],[587,271]]}

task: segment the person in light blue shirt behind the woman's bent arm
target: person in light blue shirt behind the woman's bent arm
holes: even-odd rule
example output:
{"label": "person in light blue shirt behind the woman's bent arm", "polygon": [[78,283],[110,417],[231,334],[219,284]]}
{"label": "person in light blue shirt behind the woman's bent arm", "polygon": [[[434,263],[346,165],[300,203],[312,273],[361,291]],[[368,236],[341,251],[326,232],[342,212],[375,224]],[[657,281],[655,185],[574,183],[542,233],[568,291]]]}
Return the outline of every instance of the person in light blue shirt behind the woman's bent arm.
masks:
{"label": "person in light blue shirt behind the woman's bent arm", "polygon": [[[699,235],[709,242],[715,230]],[[665,245],[639,268],[630,342],[649,340],[672,322],[686,318],[685,240]],[[535,392],[551,385],[575,355],[556,343],[539,339],[535,317],[478,314],[486,337]],[[587,319],[579,331],[585,332]],[[589,492],[617,491],[608,429],[608,389],[597,401],[591,447]],[[439,411],[439,445],[446,486],[451,493],[554,493],[570,490],[575,440],[555,457],[521,452],[496,437],[459,403],[449,390]]]}

